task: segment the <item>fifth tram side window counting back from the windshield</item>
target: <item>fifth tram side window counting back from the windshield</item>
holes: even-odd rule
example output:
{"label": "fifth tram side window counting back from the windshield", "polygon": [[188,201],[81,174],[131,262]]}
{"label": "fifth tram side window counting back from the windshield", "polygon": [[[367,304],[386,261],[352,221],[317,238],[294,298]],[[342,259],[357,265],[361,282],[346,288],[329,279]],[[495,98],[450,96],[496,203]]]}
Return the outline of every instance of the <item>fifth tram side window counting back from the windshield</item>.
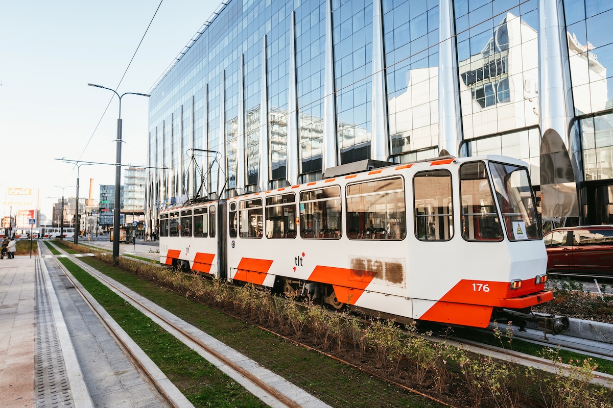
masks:
{"label": "fifth tram side window counting back from the windshield", "polygon": [[296,195],[285,193],[268,196],[265,202],[264,231],[266,231],[266,237],[294,239],[296,237]]}

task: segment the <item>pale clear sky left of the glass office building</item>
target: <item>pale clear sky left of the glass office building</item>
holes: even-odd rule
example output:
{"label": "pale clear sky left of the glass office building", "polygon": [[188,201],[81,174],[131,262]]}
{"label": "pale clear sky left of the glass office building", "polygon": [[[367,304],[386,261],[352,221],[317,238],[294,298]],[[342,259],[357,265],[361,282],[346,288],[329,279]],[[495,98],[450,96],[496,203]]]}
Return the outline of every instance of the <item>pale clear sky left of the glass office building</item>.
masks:
{"label": "pale clear sky left of the glass office building", "polygon": [[[77,182],[77,169],[55,158],[115,163],[118,98],[87,84],[147,94],[220,3],[162,0],[118,86],[159,0],[0,2],[0,188],[40,188],[51,218],[62,195],[54,186],[72,197]],[[148,98],[121,99],[123,164],[145,165],[147,116]],[[97,199],[115,166],[83,165],[79,177],[79,196],[93,178]]]}

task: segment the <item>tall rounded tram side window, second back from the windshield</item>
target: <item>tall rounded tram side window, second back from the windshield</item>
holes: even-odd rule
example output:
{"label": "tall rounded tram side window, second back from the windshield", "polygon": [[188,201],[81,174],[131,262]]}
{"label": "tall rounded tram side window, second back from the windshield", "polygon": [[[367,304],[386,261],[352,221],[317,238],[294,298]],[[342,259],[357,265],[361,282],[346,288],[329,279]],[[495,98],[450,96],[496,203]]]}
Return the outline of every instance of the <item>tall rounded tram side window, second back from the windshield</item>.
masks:
{"label": "tall rounded tram side window, second back from the windshield", "polygon": [[454,236],[451,173],[422,171],[413,179],[415,236],[421,241],[447,241]]}

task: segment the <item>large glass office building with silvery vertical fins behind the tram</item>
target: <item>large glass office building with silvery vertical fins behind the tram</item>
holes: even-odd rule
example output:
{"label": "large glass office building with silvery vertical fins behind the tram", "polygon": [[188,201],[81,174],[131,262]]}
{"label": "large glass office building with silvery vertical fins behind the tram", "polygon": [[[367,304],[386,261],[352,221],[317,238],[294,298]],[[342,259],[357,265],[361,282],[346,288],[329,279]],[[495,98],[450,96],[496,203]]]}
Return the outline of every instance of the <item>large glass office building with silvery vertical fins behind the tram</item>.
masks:
{"label": "large glass office building with silvery vertical fins behind the tram", "polygon": [[147,224],[354,161],[483,154],[530,165],[544,220],[613,223],[609,21],[605,0],[228,0],[150,92]]}

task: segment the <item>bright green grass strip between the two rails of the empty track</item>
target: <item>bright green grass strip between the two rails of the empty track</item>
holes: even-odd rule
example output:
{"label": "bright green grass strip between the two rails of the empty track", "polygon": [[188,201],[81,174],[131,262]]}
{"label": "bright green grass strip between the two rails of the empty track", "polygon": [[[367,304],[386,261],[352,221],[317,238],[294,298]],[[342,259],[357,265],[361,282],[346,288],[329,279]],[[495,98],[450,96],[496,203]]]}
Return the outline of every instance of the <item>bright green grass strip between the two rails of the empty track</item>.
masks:
{"label": "bright green grass strip between the two rails of the empty track", "polygon": [[265,407],[242,385],[219,371],[134,306],[67,258],[59,259],[196,407]]}

